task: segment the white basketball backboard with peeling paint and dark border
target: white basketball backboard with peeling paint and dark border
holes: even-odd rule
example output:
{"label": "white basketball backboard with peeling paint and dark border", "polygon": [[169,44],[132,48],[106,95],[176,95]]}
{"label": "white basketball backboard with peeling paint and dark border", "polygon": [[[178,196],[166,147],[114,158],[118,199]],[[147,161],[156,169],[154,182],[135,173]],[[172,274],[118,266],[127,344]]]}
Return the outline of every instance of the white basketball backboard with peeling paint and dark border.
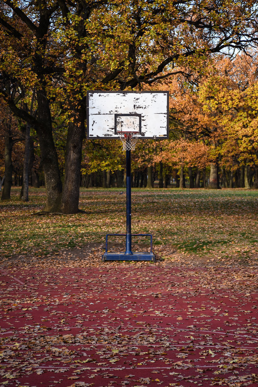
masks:
{"label": "white basketball backboard with peeling paint and dark border", "polygon": [[87,138],[118,139],[121,128],[143,139],[167,139],[169,92],[87,91]]}

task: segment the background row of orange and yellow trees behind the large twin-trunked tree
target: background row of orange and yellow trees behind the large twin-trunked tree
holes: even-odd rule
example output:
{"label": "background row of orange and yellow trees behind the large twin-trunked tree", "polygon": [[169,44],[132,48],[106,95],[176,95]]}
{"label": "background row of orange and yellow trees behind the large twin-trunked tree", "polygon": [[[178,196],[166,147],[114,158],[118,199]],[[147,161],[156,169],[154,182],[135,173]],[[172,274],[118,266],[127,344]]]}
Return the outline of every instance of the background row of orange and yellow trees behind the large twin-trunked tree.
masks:
{"label": "background row of orange and yellow trees behind the large twin-trunked tree", "polygon": [[[153,89],[170,91],[170,139],[139,140],[132,153],[134,187],[258,188],[258,104],[256,98],[257,57],[237,55],[234,60],[216,57],[209,62],[209,77],[186,82],[182,76],[168,77]],[[2,164],[4,132],[12,153],[14,183],[21,185],[24,170],[26,125],[1,108]],[[9,114],[8,114],[9,113]],[[65,131],[54,132],[60,175],[64,176]],[[45,183],[40,166],[36,132],[31,131],[28,170],[35,187]],[[81,186],[123,187],[125,155],[119,140],[85,140]],[[21,197],[24,195],[23,188]]]}

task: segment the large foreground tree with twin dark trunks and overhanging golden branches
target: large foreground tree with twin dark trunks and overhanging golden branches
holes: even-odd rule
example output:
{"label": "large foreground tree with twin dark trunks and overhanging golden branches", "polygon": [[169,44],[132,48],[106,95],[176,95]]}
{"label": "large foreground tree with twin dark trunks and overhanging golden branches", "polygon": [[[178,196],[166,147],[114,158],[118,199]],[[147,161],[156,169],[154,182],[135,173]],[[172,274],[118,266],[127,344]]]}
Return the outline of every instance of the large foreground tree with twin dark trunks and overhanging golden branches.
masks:
{"label": "large foreground tree with twin dark trunks and overhanging golden branches", "polygon": [[[46,210],[78,211],[87,90],[141,90],[182,67],[186,76],[201,71],[210,54],[246,50],[257,39],[255,4],[4,0],[1,93],[14,115],[37,132]],[[7,80],[26,94],[36,90],[36,117],[17,106],[17,95],[10,98]],[[52,135],[56,103],[68,125],[63,188]]]}

